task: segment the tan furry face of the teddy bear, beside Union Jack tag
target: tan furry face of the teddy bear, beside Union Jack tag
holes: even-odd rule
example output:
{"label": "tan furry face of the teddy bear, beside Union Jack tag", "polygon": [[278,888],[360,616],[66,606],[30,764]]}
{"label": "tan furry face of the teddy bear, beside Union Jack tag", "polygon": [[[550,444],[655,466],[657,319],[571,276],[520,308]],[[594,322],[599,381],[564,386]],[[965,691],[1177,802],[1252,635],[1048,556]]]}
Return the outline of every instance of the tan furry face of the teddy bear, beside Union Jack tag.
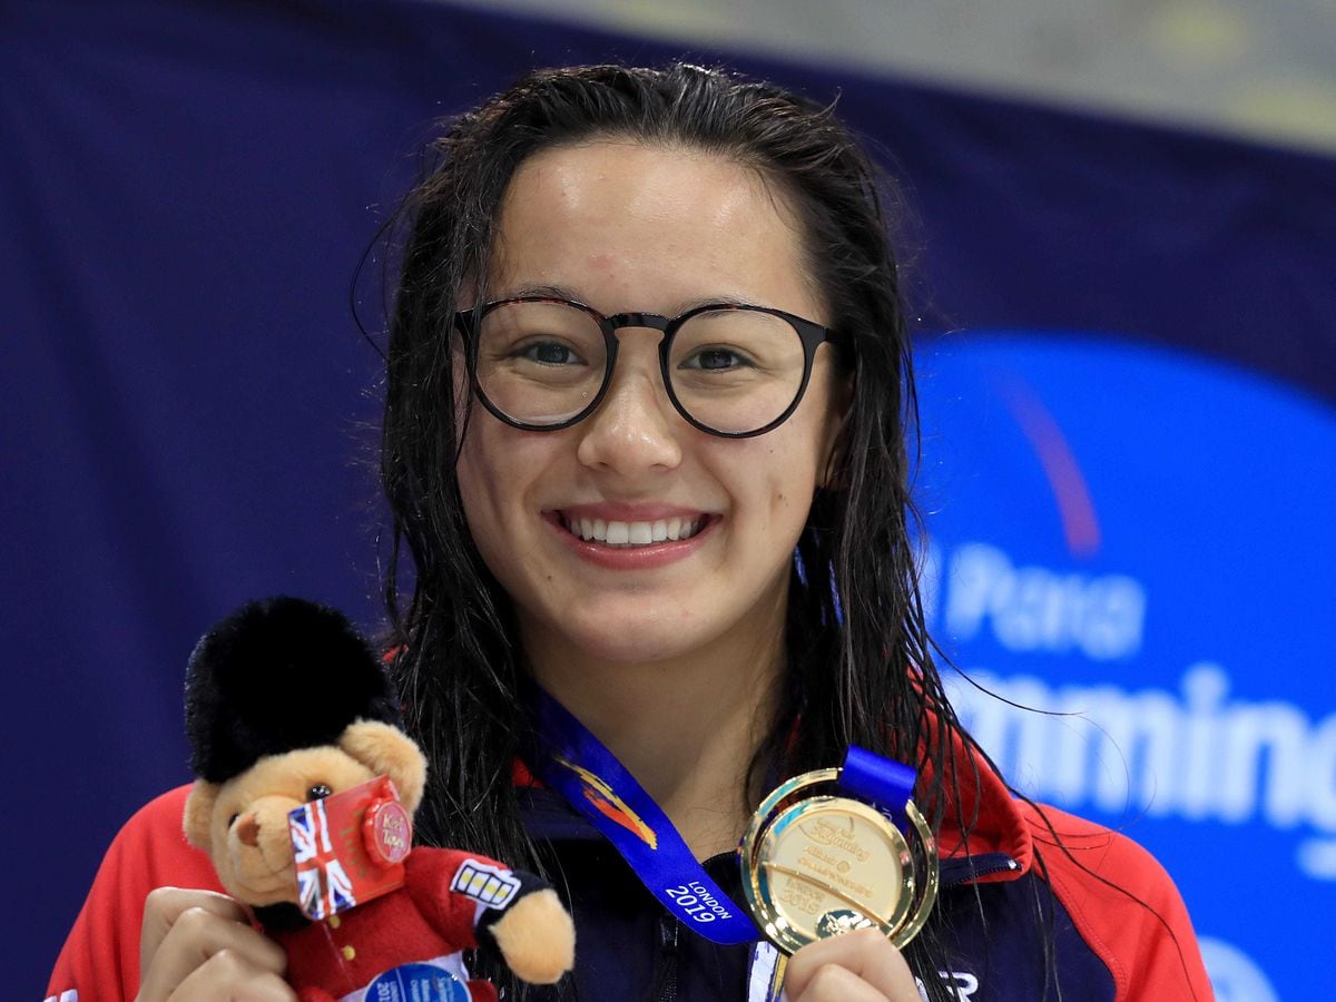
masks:
{"label": "tan furry face of the teddy bear, beside Union Jack tag", "polygon": [[216,788],[207,850],[224,890],[251,906],[297,902],[287,815],[375,778],[333,747],[271,755]]}

